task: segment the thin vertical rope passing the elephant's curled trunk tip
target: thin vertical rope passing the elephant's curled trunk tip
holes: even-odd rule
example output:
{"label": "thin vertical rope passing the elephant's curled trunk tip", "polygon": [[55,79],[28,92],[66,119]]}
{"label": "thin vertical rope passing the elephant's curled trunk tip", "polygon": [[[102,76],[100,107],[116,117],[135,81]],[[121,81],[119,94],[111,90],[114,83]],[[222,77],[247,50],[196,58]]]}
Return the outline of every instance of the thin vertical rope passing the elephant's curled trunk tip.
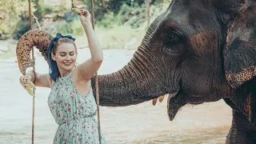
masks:
{"label": "thin vertical rope passing the elephant's curled trunk tip", "polygon": [[[30,13],[30,30],[32,30],[32,14],[31,14],[31,2],[29,0],[29,13]],[[34,61],[34,48],[32,48],[32,60]],[[33,72],[35,76],[35,66],[33,65]],[[34,78],[35,79],[35,78]],[[34,89],[33,89],[34,93]],[[34,95],[33,95],[33,103],[32,103],[32,144],[34,144]]]}

